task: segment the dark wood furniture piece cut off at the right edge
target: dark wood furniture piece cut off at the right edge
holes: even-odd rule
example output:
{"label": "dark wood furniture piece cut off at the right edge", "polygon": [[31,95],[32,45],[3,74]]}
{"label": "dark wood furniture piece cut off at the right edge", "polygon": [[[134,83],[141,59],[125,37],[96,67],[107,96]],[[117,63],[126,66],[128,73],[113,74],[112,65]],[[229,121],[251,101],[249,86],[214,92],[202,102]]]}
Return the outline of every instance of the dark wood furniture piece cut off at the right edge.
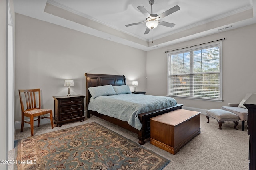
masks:
{"label": "dark wood furniture piece cut off at the right edge", "polygon": [[249,138],[249,170],[256,170],[256,94],[253,93],[245,102],[248,109],[248,135]]}

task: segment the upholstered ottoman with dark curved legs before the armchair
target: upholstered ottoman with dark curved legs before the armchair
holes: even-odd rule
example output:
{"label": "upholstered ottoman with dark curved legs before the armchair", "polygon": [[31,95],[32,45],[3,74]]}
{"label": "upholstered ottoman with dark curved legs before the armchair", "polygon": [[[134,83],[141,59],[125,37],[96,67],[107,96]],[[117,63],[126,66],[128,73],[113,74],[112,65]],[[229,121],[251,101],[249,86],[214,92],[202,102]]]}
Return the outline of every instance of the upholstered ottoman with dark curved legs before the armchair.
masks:
{"label": "upholstered ottoman with dark curved legs before the armchair", "polygon": [[219,123],[219,129],[221,129],[221,126],[225,121],[232,121],[235,123],[234,129],[237,130],[236,126],[238,125],[239,117],[238,115],[231,113],[230,111],[226,111],[222,109],[206,110],[206,118],[208,120],[207,123],[209,123],[209,117],[217,119]]}

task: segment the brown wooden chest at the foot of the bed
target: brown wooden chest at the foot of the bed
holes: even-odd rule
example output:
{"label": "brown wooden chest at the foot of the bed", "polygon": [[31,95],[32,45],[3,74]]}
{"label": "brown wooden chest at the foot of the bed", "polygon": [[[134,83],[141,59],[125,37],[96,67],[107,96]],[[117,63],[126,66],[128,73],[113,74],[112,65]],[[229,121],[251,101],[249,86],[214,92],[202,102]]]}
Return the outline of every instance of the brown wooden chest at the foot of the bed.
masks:
{"label": "brown wooden chest at the foot of the bed", "polygon": [[176,154],[201,133],[200,112],[178,109],[150,119],[150,143]]}

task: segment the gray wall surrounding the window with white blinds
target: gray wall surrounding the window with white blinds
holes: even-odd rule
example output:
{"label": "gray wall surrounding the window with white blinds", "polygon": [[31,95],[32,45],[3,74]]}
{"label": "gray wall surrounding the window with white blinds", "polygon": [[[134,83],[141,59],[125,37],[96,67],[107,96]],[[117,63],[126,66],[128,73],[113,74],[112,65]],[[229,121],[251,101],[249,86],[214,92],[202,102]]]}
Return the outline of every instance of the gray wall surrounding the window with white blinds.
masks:
{"label": "gray wall surrounding the window with white blinds", "polygon": [[186,107],[220,109],[230,102],[241,102],[248,92],[256,92],[256,24],[206,37],[174,44],[147,52],[147,94],[166,96],[167,53],[164,51],[190,47],[222,38],[223,41],[223,102],[176,98]]}

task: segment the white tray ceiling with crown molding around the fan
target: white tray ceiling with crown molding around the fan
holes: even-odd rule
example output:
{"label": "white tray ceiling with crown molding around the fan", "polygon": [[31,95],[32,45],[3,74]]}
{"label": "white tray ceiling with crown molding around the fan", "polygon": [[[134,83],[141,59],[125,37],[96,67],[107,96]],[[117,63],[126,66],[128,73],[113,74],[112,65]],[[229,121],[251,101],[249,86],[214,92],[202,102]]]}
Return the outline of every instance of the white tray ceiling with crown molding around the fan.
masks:
{"label": "white tray ceiling with crown molding around the fan", "polygon": [[[161,14],[175,5],[180,10],[162,21],[173,28],[158,25],[144,35],[146,24],[138,10],[144,6],[151,14],[149,0],[14,0],[16,13],[116,41],[145,51],[164,47],[256,23],[256,0],[155,0],[153,13]],[[224,29],[221,31],[225,31]],[[152,42],[153,40],[153,42]]]}

